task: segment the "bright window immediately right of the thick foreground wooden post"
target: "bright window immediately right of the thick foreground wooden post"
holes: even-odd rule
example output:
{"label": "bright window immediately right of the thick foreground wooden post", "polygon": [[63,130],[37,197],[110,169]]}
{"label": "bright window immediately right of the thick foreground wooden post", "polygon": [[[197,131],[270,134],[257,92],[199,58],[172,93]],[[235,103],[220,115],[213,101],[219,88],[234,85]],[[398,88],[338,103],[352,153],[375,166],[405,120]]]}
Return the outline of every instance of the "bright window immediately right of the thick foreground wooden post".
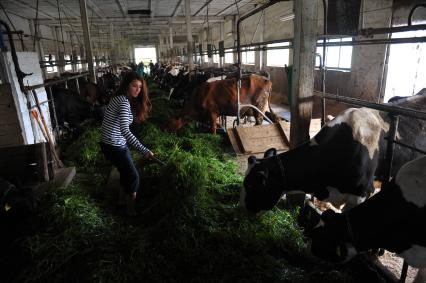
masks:
{"label": "bright window immediately right of the thick foreground wooden post", "polygon": [[[338,42],[349,42],[352,41],[352,37],[337,38],[337,39],[328,39],[327,43],[338,43]],[[322,40],[319,40],[318,43],[322,44]],[[349,71],[351,69],[352,61],[352,46],[328,46],[326,47],[326,60],[325,66],[328,69],[344,70]],[[320,54],[322,57],[323,47],[317,47],[317,54]],[[316,56],[315,66],[319,67],[320,61],[319,57]]]}

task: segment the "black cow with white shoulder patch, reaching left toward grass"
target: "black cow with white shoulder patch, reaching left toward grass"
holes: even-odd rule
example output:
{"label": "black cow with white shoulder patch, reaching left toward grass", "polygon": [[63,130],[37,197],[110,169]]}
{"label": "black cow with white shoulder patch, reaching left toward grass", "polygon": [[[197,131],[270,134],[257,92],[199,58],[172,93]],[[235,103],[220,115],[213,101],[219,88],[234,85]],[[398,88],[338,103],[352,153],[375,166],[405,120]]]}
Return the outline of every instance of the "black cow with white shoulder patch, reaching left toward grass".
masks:
{"label": "black cow with white shoulder patch, reaching left toward grass", "polygon": [[[400,106],[400,104],[397,104]],[[405,107],[426,108],[426,94],[405,101]],[[356,206],[373,191],[375,176],[383,175],[389,132],[387,113],[350,108],[328,122],[301,146],[269,158],[249,158],[240,203],[248,210],[271,209],[290,191],[311,193],[345,209]],[[426,148],[426,122],[401,118],[398,140]],[[394,172],[419,153],[397,146]]]}

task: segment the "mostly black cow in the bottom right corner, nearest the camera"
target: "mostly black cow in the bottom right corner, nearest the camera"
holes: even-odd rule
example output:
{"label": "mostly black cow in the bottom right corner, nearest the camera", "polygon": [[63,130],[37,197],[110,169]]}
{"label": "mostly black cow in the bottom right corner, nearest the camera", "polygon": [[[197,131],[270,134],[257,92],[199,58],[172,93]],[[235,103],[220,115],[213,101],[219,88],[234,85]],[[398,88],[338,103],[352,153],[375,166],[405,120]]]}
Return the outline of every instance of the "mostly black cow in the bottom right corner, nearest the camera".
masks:
{"label": "mostly black cow in the bottom right corner, nearest the camera", "polygon": [[345,262],[355,254],[384,248],[420,268],[426,282],[426,156],[406,163],[396,177],[357,207],[327,210],[310,233],[313,254]]}

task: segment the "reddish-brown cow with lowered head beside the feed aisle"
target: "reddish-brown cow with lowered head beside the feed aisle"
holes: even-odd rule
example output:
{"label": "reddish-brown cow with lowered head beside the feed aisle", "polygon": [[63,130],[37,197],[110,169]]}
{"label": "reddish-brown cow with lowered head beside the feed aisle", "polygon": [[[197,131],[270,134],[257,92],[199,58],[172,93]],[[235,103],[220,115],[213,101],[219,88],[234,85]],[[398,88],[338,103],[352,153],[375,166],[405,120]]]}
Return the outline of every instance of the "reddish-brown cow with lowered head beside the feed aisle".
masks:
{"label": "reddish-brown cow with lowered head beside the feed aisle", "polygon": [[[265,113],[266,107],[270,109],[270,93],[272,82],[266,77],[250,75],[241,79],[240,103],[252,104]],[[212,133],[216,133],[216,119],[221,115],[237,115],[237,80],[235,78],[221,81],[204,82],[197,86],[188,100],[185,101],[183,110],[178,117],[171,119],[167,130],[175,131],[195,120],[210,122]],[[263,116],[250,107],[240,109],[241,116],[254,116],[256,125],[260,125]]]}

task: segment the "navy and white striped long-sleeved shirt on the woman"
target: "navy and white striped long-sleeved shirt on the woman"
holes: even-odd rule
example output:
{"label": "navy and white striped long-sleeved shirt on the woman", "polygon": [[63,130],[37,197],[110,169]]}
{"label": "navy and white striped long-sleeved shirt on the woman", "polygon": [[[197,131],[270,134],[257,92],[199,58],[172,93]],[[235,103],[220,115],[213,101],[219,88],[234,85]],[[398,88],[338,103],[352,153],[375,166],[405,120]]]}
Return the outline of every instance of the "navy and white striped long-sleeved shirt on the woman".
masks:
{"label": "navy and white striped long-sleeved shirt on the woman", "polygon": [[150,150],[130,131],[129,126],[132,122],[133,115],[127,97],[114,96],[106,108],[102,121],[101,142],[113,146],[124,146],[127,142],[145,155]]}

